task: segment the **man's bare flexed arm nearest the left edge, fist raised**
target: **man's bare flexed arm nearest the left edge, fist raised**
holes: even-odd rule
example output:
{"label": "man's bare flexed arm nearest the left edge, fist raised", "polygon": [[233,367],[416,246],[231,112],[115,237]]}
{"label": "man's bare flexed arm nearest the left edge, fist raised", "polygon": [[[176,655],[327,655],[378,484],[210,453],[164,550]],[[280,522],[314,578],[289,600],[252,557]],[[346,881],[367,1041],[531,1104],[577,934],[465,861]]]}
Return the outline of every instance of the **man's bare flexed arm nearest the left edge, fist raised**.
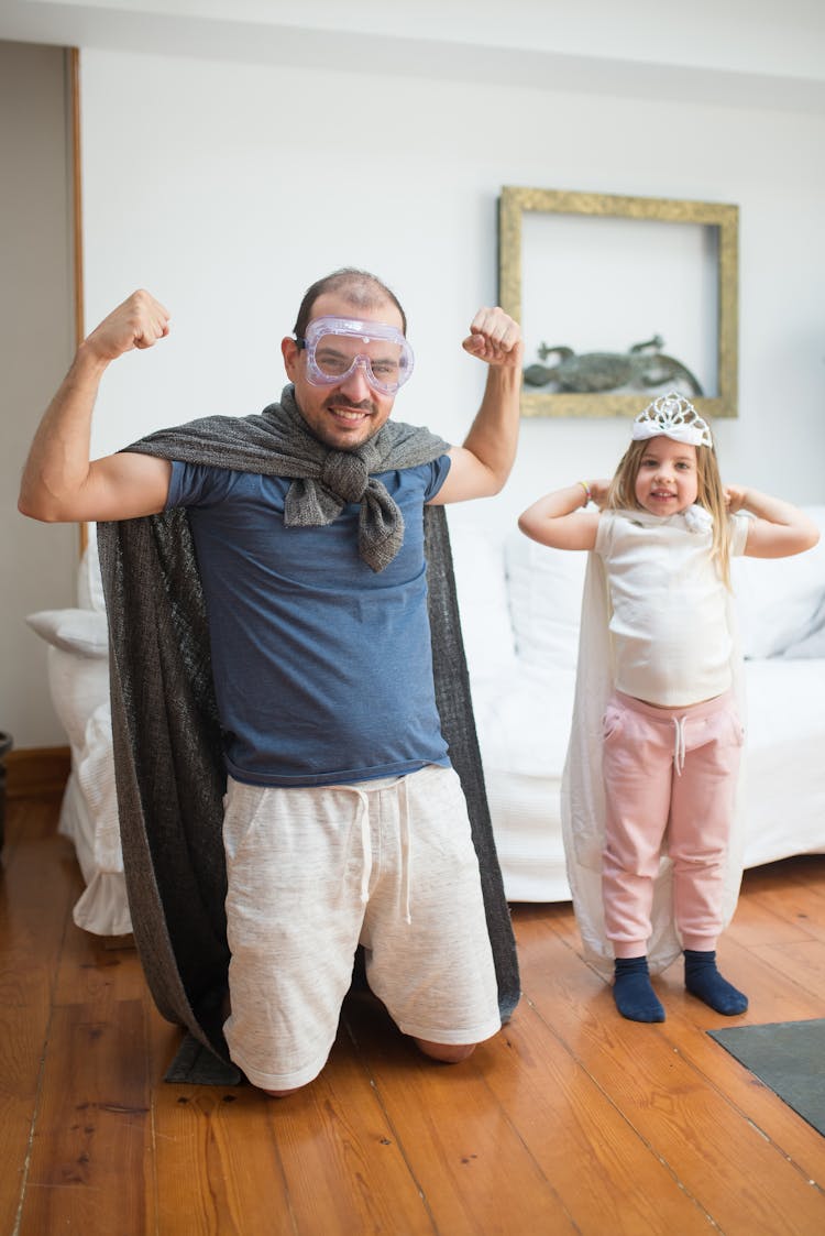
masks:
{"label": "man's bare flexed arm nearest the left edge, fist raised", "polygon": [[169,332],[169,314],[148,292],[135,292],[80,344],[35,435],[20,487],[23,515],[49,523],[130,519],[162,510],[170,465],[119,454],[90,462],[91,413],[107,366]]}

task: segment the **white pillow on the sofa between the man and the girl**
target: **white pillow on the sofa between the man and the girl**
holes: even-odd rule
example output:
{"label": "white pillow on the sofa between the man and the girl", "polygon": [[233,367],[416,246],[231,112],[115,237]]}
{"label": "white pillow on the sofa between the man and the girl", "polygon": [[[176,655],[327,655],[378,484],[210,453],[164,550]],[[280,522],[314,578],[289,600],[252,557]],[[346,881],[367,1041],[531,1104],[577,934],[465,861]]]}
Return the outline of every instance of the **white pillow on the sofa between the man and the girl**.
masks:
{"label": "white pillow on the sofa between the man and the girl", "polygon": [[513,531],[505,562],[520,662],[537,672],[574,669],[587,554],[550,549]]}

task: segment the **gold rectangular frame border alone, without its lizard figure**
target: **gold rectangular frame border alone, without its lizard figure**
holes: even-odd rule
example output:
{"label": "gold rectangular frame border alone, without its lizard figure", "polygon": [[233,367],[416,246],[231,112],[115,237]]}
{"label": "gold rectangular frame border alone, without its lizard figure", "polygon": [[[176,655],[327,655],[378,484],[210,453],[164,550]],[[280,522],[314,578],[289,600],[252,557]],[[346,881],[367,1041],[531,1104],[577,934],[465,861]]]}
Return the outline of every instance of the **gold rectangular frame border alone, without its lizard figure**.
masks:
{"label": "gold rectangular frame border alone, without its lizard figure", "polygon": [[[713,394],[690,394],[698,412],[715,417],[739,415],[739,206],[668,198],[627,198],[598,193],[529,189],[505,185],[499,199],[499,304],[525,328],[522,319],[522,222],[529,213],[580,215],[593,219],[629,219],[693,224],[714,229],[716,337]],[[667,288],[667,277],[651,281]],[[525,331],[526,336],[526,331]],[[551,341],[555,344],[555,341]],[[666,360],[672,360],[666,357]],[[529,358],[525,357],[525,367]],[[632,417],[640,396],[605,392],[521,392],[524,417]]]}

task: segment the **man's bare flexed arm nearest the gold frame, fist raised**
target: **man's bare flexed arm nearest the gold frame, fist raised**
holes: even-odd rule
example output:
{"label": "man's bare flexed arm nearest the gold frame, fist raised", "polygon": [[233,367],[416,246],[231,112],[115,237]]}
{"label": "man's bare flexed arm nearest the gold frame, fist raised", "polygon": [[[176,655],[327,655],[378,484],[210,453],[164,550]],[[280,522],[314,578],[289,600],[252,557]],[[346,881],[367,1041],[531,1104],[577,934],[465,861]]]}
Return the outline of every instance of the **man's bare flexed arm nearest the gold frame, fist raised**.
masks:
{"label": "man's bare flexed arm nearest the gold frame, fist raised", "polygon": [[462,446],[450,451],[450,475],[436,504],[487,498],[510,475],[519,440],[521,394],[521,329],[503,309],[479,309],[464,351],[488,366],[482,407]]}

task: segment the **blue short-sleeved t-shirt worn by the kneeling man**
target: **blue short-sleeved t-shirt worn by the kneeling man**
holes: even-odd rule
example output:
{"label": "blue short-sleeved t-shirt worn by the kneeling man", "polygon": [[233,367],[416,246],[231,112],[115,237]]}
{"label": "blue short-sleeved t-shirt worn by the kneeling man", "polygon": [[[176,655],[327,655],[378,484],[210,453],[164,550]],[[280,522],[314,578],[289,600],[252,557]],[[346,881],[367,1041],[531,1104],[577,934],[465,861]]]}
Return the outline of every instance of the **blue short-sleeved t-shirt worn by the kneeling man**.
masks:
{"label": "blue short-sleeved t-shirt worn by the kneeling man", "polygon": [[285,528],[282,477],[174,462],[188,507],[228,772],[257,785],[333,785],[448,764],[435,702],[424,503],[450,471],[380,473],[404,515],[383,571],[358,556],[354,503]]}

